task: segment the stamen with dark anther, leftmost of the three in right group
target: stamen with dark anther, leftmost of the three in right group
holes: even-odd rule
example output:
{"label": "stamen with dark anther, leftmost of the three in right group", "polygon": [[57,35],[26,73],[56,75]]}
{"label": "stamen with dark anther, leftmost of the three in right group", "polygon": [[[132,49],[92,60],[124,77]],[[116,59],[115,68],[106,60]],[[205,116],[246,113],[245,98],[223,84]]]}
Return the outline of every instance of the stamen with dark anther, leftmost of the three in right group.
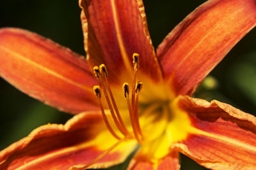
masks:
{"label": "stamen with dark anther, leftmost of the three in right group", "polygon": [[131,125],[132,125],[132,130],[134,132],[134,136],[137,139],[138,143],[142,144],[142,141],[138,134],[138,130],[136,128],[136,122],[134,120],[134,112],[132,111],[132,107],[131,107],[130,100],[129,100],[129,84],[127,82],[125,82],[123,84],[123,90],[124,90],[124,97],[126,98],[128,109],[129,109]]}

